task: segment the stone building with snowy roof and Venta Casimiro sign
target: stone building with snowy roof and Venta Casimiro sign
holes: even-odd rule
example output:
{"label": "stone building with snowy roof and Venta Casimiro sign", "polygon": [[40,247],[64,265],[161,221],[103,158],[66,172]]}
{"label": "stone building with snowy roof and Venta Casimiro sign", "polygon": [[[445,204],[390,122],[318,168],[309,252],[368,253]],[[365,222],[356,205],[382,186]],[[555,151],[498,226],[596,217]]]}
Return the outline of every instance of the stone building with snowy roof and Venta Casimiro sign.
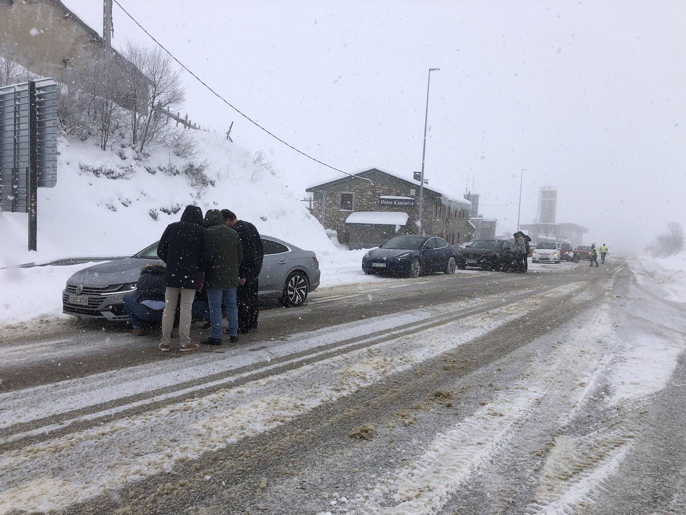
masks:
{"label": "stone building with snowy roof and Venta Casimiro sign", "polygon": [[[419,183],[372,168],[307,188],[311,213],[351,249],[376,247],[397,234],[418,232]],[[322,209],[323,207],[323,209]],[[424,187],[422,229],[451,244],[471,240],[471,203]]]}

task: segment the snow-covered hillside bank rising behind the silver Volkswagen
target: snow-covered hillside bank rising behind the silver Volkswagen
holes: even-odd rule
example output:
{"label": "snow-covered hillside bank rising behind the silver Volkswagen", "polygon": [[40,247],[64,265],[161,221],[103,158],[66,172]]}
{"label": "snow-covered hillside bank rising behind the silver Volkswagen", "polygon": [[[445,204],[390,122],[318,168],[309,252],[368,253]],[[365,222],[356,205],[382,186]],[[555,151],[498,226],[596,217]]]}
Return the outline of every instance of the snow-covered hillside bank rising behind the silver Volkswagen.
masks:
{"label": "snow-covered hillside bank rising behind the silver Volkswagen", "polygon": [[[90,141],[61,136],[58,185],[38,190],[38,252],[26,251],[27,215],[0,213],[2,266],[131,255],[156,241],[188,204],[231,209],[261,233],[324,256],[338,252],[287,180],[218,135],[193,131],[193,138],[194,159],[158,148],[139,161],[130,148],[103,152]],[[286,179],[290,173],[284,172]]]}

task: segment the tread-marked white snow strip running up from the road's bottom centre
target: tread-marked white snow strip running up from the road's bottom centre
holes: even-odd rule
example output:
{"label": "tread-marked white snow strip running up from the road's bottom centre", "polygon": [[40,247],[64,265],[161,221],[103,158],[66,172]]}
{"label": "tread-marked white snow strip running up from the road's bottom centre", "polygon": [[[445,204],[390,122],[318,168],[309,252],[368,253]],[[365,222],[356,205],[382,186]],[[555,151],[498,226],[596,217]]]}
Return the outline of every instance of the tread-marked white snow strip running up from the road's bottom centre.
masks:
{"label": "tread-marked white snow strip running up from the road's bottom centre", "polygon": [[[414,464],[388,472],[371,490],[346,496],[353,500],[344,509],[357,514],[384,515],[440,511],[454,492],[470,481],[476,468],[507,445],[539,409],[542,400],[556,395],[553,387],[560,375],[584,376],[593,369],[594,358],[580,360],[570,367],[570,361],[578,354],[576,345],[568,345],[552,356],[552,363],[547,363],[551,356],[534,361],[523,379],[509,391],[501,392],[495,402],[436,436]],[[579,393],[580,397],[585,392],[587,389]]]}

